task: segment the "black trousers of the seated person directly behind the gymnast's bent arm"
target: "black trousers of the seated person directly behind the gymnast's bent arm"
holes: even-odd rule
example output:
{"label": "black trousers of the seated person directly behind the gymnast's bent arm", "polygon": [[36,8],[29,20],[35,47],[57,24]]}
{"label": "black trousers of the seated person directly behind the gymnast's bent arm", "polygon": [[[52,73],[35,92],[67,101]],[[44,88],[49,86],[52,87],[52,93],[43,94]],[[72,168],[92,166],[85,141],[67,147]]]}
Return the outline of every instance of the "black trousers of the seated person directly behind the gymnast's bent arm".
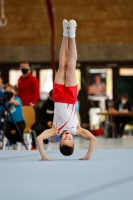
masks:
{"label": "black trousers of the seated person directly behind the gymnast's bent arm", "polygon": [[[33,129],[36,132],[36,136],[39,136],[43,131],[45,131],[46,129],[49,129],[49,127],[43,125],[43,124],[33,124],[33,126],[31,127],[31,129]],[[48,144],[48,139],[44,140],[45,144]],[[35,139],[34,137],[32,137],[32,145],[35,147]]]}

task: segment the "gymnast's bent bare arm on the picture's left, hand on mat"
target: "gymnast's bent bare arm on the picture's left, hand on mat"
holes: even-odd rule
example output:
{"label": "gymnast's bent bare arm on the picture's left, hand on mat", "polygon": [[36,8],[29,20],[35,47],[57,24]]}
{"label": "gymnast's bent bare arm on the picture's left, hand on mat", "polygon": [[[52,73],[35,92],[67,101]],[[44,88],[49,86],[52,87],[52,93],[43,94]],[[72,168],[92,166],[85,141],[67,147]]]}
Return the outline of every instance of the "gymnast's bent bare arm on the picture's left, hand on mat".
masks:
{"label": "gymnast's bent bare arm on the picture's left, hand on mat", "polygon": [[47,155],[46,155],[46,153],[44,151],[43,140],[46,140],[46,139],[48,139],[50,137],[53,137],[55,135],[56,135],[56,131],[55,131],[55,127],[53,125],[52,128],[43,131],[41,133],[41,135],[39,135],[37,137],[37,139],[36,139],[37,146],[38,146],[38,149],[40,151],[42,160],[53,160],[53,159],[47,157]]}

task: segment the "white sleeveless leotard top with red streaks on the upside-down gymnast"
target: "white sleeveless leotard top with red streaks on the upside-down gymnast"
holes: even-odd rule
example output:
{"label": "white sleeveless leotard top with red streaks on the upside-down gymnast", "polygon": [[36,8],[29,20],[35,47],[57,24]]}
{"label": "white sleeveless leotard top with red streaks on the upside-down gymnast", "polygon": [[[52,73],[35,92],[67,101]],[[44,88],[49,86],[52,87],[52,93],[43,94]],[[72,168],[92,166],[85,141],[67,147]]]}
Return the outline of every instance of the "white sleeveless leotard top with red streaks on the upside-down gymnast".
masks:
{"label": "white sleeveless leotard top with red streaks on the upside-down gymnast", "polygon": [[75,112],[75,105],[55,102],[54,106],[53,124],[56,128],[57,135],[61,135],[64,130],[68,130],[73,135],[76,135],[79,121]]}

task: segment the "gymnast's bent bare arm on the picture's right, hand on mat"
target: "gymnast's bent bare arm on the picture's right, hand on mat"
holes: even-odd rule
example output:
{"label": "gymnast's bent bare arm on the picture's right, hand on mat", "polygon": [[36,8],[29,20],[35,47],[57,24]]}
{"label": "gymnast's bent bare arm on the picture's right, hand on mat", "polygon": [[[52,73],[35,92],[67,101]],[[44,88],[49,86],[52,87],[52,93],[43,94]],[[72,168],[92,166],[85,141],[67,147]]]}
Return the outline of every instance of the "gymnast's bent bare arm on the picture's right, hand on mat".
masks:
{"label": "gymnast's bent bare arm on the picture's right, hand on mat", "polygon": [[88,151],[86,155],[83,158],[80,158],[79,160],[89,160],[91,157],[91,154],[95,148],[96,144],[96,137],[92,135],[92,133],[84,128],[81,128],[80,125],[77,127],[77,136],[83,137],[87,140],[90,140]]}

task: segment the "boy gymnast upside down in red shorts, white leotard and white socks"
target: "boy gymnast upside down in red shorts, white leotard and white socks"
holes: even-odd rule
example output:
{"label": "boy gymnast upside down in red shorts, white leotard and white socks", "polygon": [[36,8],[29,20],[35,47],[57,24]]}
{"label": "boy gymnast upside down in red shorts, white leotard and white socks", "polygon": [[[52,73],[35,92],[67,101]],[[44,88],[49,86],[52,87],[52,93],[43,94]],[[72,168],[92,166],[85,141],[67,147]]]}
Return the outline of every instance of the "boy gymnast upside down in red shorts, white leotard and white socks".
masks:
{"label": "boy gymnast upside down in red shorts, white leotard and white socks", "polygon": [[[75,113],[75,102],[77,100],[76,60],[77,50],[75,42],[76,32],[75,20],[63,20],[63,39],[59,54],[59,69],[55,76],[53,89],[54,119],[52,128],[45,130],[37,137],[37,146],[42,160],[53,160],[48,158],[44,152],[43,140],[59,135],[60,152],[69,156],[74,151],[73,135],[90,140],[86,155],[80,160],[89,160],[94,150],[96,138],[88,131],[80,127]],[[68,51],[68,37],[70,47]]]}

